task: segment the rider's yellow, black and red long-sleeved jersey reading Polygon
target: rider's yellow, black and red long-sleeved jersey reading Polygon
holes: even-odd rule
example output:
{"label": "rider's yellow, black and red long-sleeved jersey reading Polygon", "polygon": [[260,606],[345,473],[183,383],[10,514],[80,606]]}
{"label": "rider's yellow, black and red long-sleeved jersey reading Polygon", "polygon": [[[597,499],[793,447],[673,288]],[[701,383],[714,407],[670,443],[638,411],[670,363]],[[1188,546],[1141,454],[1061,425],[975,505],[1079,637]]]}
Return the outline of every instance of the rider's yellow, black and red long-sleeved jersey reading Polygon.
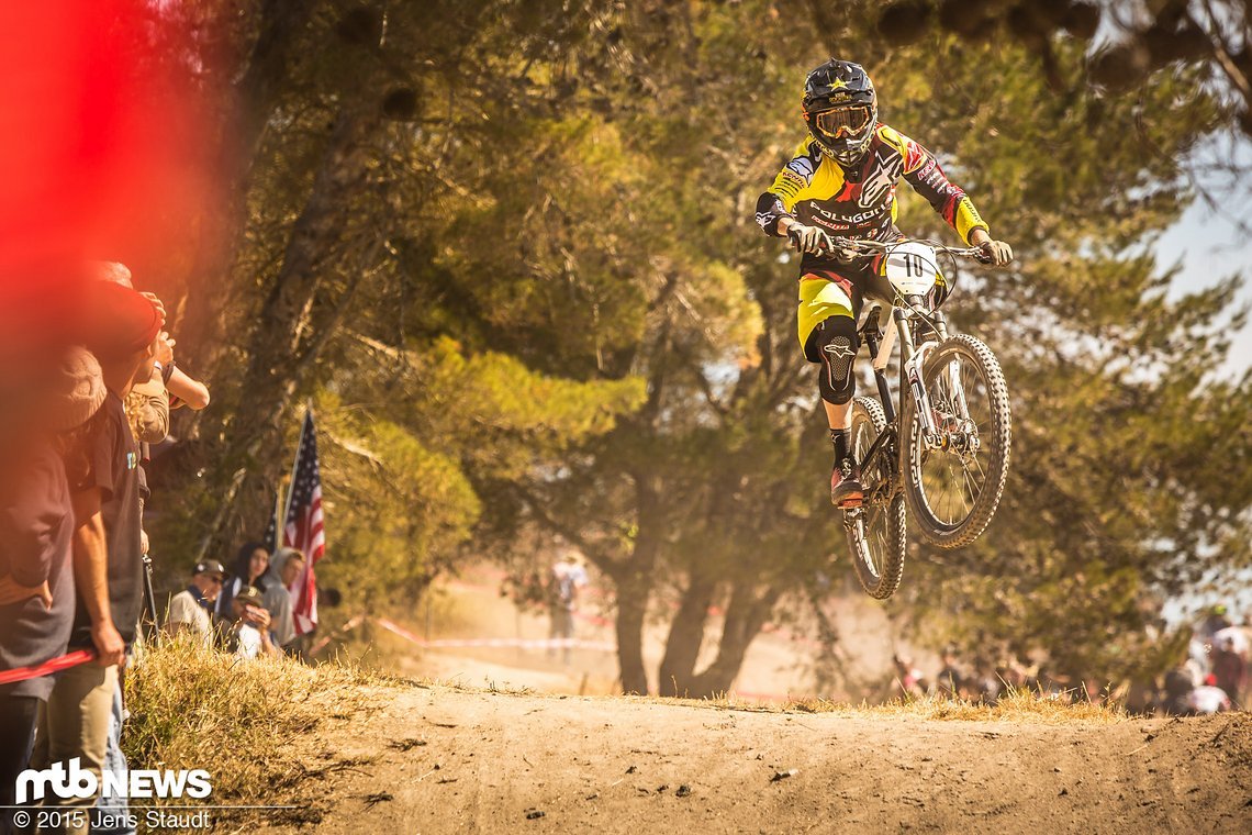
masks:
{"label": "rider's yellow, black and red long-sleeved jersey reading Polygon", "polygon": [[[879,123],[863,161],[844,170],[806,138],[774,184],[756,203],[756,223],[779,235],[779,220],[790,215],[839,238],[885,240],[895,234],[895,187],[904,178],[969,243],[969,233],[987,229],[978,209],[954,185],[939,161],[919,143]],[[805,264],[825,259],[805,255]]]}

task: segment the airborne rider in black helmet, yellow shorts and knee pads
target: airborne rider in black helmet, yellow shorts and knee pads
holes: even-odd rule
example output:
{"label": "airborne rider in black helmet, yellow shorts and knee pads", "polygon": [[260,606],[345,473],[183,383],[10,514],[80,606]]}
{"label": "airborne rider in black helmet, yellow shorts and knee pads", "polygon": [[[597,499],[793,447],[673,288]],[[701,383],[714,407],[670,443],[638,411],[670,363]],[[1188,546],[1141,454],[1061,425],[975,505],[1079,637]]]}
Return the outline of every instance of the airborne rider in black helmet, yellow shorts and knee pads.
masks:
{"label": "airborne rider in black helmet, yellow shorts and knee pads", "polygon": [[903,177],[989,263],[1009,263],[1013,250],[992,239],[978,209],[930,151],[878,120],[878,95],[859,64],[830,59],[809,73],[801,113],[809,136],[757,199],[756,223],[769,235],[791,238],[804,253],[798,324],[805,359],[821,364],[818,389],[835,447],[830,501],[855,506],[860,471],[849,456],[848,431],[860,347],[856,318],[865,295],[890,300],[891,289],[880,255],[843,257],[839,239],[899,239],[895,187]]}

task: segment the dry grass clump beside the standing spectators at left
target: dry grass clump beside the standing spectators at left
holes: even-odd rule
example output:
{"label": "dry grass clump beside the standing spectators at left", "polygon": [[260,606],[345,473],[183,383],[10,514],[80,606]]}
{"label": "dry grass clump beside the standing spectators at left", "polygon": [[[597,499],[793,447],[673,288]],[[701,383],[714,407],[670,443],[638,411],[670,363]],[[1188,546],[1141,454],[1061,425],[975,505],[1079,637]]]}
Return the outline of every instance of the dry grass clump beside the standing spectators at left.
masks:
{"label": "dry grass clump beside the standing spectators at left", "polygon": [[310,777],[358,764],[333,752],[310,757],[310,736],[323,722],[371,710],[397,686],[347,665],[240,661],[193,641],[165,642],[126,672],[123,749],[134,769],[207,769],[209,802],[299,805],[282,817],[316,822],[316,806],[303,799]]}

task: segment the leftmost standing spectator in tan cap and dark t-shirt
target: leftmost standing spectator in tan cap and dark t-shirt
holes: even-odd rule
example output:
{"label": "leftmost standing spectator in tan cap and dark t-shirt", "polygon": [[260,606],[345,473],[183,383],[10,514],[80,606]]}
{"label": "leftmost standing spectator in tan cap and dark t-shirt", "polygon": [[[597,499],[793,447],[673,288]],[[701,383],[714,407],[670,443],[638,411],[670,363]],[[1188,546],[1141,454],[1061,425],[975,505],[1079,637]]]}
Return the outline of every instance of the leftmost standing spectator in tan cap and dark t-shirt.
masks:
{"label": "leftmost standing spectator in tan cap and dark t-shirt", "polygon": [[[70,349],[46,379],[53,391],[40,423],[60,434],[6,439],[0,466],[0,670],[64,655],[74,623],[74,507],[61,452],[91,432],[105,388],[100,366],[81,348]],[[8,807],[53,684],[40,676],[0,685],[0,832],[10,831]]]}

